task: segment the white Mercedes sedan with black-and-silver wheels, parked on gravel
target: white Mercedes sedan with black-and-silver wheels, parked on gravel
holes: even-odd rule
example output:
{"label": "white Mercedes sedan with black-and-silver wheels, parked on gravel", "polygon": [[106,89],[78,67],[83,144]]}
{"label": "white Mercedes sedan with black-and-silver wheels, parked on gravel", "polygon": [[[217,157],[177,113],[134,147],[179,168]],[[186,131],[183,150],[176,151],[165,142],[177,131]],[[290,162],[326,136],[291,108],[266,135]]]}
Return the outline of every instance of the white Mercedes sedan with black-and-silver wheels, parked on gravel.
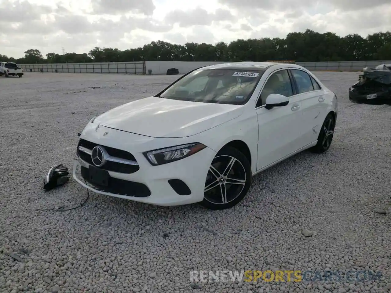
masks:
{"label": "white Mercedes sedan with black-and-silver wheels, parked on gravel", "polygon": [[305,149],[328,150],[336,118],[335,94],[301,66],[206,66],[91,119],[73,177],[103,195],[226,209],[256,173]]}

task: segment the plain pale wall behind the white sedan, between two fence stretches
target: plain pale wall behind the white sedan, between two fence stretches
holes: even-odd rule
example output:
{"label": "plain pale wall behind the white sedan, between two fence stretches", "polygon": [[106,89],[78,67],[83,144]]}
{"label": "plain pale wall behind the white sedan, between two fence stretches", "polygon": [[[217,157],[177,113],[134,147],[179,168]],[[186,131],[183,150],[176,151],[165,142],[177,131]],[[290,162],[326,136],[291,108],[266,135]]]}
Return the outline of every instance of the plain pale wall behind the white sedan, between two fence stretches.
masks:
{"label": "plain pale wall behind the white sedan, between two fence stretches", "polygon": [[185,74],[189,72],[190,70],[194,70],[196,68],[207,66],[207,65],[213,65],[213,64],[220,64],[220,63],[227,63],[220,61],[220,62],[213,62],[213,61],[145,61],[145,68],[147,70],[152,70],[152,74],[166,74],[167,69],[169,68],[178,68],[179,74]]}

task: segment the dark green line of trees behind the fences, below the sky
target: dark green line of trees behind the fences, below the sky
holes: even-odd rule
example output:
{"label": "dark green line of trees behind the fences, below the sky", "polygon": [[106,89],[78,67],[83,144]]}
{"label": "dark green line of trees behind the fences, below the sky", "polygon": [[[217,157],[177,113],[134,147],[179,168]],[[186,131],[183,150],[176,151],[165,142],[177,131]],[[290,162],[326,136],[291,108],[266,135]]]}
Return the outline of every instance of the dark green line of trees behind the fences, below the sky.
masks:
{"label": "dark green line of trees behind the fences, below the sky", "polygon": [[391,60],[391,32],[377,32],[363,38],[359,34],[339,37],[333,32],[313,30],[291,32],[286,38],[237,39],[219,42],[171,44],[153,41],[127,50],[95,47],[88,53],[48,53],[46,58],[37,49],[25,51],[15,59],[0,54],[1,61],[31,63],[84,63],[126,61],[370,61]]}

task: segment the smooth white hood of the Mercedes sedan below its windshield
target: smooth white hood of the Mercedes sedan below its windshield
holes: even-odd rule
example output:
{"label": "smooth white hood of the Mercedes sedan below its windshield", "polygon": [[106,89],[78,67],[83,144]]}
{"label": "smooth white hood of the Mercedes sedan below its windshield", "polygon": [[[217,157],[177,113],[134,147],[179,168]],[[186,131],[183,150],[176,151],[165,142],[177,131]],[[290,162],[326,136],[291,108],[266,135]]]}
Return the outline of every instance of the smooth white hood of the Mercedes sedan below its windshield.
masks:
{"label": "smooth white hood of the Mercedes sedan below its windshield", "polygon": [[192,136],[238,117],[240,105],[150,96],[103,113],[93,123],[155,138]]}

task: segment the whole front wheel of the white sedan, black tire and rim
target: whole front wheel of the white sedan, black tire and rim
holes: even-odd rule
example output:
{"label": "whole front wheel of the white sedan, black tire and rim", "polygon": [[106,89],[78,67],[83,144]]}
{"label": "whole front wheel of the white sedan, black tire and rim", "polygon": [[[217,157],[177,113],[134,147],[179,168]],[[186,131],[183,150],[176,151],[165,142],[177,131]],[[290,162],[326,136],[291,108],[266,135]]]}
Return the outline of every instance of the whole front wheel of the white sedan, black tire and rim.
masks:
{"label": "whole front wheel of the white sedan, black tire and rim", "polygon": [[222,148],[209,166],[201,205],[213,210],[233,207],[248,193],[251,179],[246,156],[236,148]]}

